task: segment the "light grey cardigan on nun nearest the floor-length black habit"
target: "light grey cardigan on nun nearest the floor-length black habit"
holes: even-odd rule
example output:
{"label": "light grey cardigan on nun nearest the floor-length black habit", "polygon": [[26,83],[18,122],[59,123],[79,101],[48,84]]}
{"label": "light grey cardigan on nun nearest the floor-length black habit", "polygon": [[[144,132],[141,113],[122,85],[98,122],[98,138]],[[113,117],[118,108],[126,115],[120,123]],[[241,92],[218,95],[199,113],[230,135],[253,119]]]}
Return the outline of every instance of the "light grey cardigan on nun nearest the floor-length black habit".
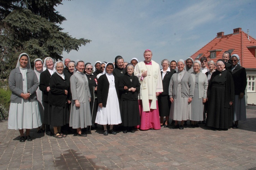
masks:
{"label": "light grey cardigan on nun nearest the floor-length black habit", "polygon": [[[196,73],[192,72],[191,73],[193,77],[194,83],[196,83]],[[208,88],[208,79],[206,74],[200,72],[198,73],[198,94],[199,94],[199,99],[206,99],[207,98],[207,88]]]}

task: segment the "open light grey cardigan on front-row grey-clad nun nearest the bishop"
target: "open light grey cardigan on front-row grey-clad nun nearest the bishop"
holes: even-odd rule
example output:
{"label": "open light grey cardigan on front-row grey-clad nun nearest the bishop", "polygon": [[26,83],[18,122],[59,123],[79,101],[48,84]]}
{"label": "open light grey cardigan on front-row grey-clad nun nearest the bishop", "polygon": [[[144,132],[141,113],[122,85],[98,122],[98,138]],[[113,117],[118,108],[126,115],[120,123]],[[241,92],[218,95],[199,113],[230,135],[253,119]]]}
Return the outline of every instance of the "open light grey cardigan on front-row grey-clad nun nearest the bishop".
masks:
{"label": "open light grey cardigan on front-row grey-clad nun nearest the bishop", "polygon": [[[170,98],[176,99],[177,97],[178,76],[179,76],[179,73],[174,73],[172,75],[170,85],[169,85]],[[195,83],[193,81],[191,73],[185,72],[181,79],[181,97],[193,98],[194,89],[195,89]]]}

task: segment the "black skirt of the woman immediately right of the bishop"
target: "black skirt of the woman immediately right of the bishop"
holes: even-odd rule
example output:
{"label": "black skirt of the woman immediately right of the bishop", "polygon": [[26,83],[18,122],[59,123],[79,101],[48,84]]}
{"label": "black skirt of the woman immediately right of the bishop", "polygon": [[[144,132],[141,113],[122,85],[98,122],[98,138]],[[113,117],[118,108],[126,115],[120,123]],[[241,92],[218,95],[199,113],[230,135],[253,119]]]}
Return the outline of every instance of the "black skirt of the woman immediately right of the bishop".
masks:
{"label": "black skirt of the woman immediately right of the bishop", "polygon": [[165,117],[170,115],[171,101],[169,95],[158,96],[159,116]]}

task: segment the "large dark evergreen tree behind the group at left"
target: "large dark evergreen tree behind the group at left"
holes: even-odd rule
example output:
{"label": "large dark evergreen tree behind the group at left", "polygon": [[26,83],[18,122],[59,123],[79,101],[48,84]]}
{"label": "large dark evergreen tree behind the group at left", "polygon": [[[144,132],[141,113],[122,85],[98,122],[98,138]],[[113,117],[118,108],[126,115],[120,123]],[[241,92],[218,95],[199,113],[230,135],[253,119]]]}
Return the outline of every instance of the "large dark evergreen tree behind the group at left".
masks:
{"label": "large dark evergreen tree behind the group at left", "polygon": [[8,78],[18,56],[62,60],[62,52],[79,50],[90,40],[72,38],[57,24],[66,20],[55,10],[62,0],[0,0],[0,79]]}

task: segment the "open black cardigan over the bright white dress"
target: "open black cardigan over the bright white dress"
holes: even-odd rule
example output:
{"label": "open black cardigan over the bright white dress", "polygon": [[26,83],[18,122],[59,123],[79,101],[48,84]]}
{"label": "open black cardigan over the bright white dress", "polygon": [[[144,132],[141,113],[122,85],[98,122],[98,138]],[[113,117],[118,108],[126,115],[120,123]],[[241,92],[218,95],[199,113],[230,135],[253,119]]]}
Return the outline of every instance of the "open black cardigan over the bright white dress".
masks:
{"label": "open black cardigan over the bright white dress", "polygon": [[[114,78],[115,78],[116,94],[119,100],[119,92],[118,92],[119,79],[116,75],[114,75]],[[103,107],[106,107],[108,94],[109,94],[109,80],[106,77],[106,74],[103,74],[99,77],[98,86],[97,86],[97,95],[98,95],[97,100],[98,100],[98,103],[102,103]]]}

